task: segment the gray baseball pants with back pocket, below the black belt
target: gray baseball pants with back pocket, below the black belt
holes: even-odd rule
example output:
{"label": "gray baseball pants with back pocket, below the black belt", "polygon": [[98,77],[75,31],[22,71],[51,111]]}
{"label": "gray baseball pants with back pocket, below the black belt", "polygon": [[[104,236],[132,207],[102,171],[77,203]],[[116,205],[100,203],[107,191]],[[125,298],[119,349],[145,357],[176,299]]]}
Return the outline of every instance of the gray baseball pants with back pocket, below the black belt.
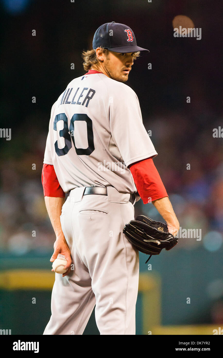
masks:
{"label": "gray baseball pants with back pocket, below the black belt", "polygon": [[94,306],[101,335],[135,335],[139,252],[122,233],[134,219],[130,194],[108,187],[108,195],[71,190],[60,222],[73,270],[55,274],[52,315],[44,335],[82,335]]}

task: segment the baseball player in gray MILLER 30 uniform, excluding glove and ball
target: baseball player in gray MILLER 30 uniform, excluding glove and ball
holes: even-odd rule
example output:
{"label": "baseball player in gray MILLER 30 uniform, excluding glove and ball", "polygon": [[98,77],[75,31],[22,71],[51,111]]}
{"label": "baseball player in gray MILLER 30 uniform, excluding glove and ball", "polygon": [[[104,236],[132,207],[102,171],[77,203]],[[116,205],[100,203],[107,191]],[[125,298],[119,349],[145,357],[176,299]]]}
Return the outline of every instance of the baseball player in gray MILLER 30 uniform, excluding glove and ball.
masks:
{"label": "baseball player in gray MILLER 30 uniform, excluding glove and ball", "polygon": [[[84,51],[87,73],[54,103],[44,155],[45,204],[56,235],[52,315],[44,333],[81,335],[95,306],[102,335],[134,335],[139,252],[123,234],[134,204],[152,202],[176,233],[179,222],[152,158],[136,93],[125,84],[134,59],[149,52],[129,26],[106,23]],[[64,203],[65,193],[68,193]]]}

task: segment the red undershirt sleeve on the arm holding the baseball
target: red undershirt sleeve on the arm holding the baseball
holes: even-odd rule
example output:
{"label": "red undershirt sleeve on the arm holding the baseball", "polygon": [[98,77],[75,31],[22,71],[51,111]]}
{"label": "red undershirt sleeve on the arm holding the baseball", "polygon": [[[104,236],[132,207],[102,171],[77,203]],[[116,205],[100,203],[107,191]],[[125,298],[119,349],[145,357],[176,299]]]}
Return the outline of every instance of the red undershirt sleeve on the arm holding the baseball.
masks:
{"label": "red undershirt sleeve on the arm holding the baseball", "polygon": [[53,165],[43,164],[42,185],[44,197],[65,198]]}

